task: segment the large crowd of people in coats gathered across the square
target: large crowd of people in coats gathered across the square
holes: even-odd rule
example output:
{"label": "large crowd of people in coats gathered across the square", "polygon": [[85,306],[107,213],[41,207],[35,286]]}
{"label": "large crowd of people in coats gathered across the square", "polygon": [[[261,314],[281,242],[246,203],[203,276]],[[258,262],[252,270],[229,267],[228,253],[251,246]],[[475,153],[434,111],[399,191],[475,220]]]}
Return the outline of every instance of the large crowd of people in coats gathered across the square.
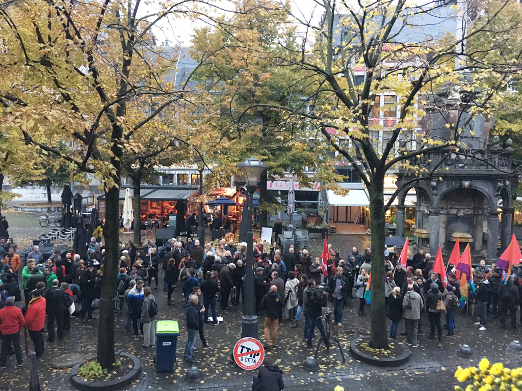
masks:
{"label": "large crowd of people in coats gathered across the square", "polygon": [[[86,260],[80,259],[73,249],[62,258],[55,251],[44,259],[38,246],[22,262],[12,238],[0,238],[0,332],[2,350],[0,366],[5,368],[7,356],[15,354],[22,363],[19,333],[26,327],[37,356],[44,351],[44,333],[52,343],[64,337],[70,329],[70,316],[79,316],[82,322],[93,319],[92,312],[99,306],[101,280],[103,278],[103,243],[92,238]],[[264,316],[265,348],[276,349],[280,322],[288,321],[292,328],[303,324],[306,346],[312,347],[314,330],[324,337],[323,308],[332,304],[333,321],[343,325],[343,312],[349,300],[359,299],[358,315],[365,315],[367,301],[365,290],[372,270],[372,251],[361,254],[353,247],[346,260],[328,245],[326,277],[321,260],[312,258],[309,251],[295,251],[291,246],[282,251],[278,243],[265,249],[263,243],[254,243],[254,292],[255,310]],[[187,343],[184,359],[192,364],[197,351],[199,335],[204,347],[205,326],[219,325],[219,312],[244,303],[244,279],[246,273],[247,243],[234,243],[221,239],[217,247],[203,246],[191,237],[173,238],[162,248],[152,240],[143,247],[133,242],[121,249],[117,277],[115,311],[125,316],[125,332],[134,334],[135,340],[143,338],[143,348],[155,344],[154,320],[158,304],[152,289],[163,288],[167,305],[185,308]],[[397,262],[395,254],[386,251],[385,300],[386,315],[391,325],[389,337],[397,338],[399,324],[404,318],[404,342],[412,347],[419,344],[425,317],[431,328],[430,339],[442,338],[441,316],[445,313],[447,336],[455,335],[455,313],[461,308],[459,281],[448,270],[448,281],[432,271],[430,254],[419,250],[407,261],[406,270]],[[163,270],[162,282],[159,271]],[[522,270],[513,268],[512,276],[502,283],[502,270],[485,265],[481,261],[475,269],[476,291],[467,306],[476,301],[480,331],[488,327],[488,317],[500,319],[506,327],[507,314],[511,326],[516,328],[516,312],[522,304]],[[179,304],[175,304],[174,291],[179,289]],[[25,300],[22,309],[15,303]],[[442,303],[442,304],[441,304]],[[468,308],[465,311],[469,311]],[[490,314],[490,315],[489,315]],[[522,325],[522,313],[519,319]],[[436,334],[435,334],[436,333]],[[275,371],[277,372],[277,371]],[[281,380],[282,381],[282,380]]]}

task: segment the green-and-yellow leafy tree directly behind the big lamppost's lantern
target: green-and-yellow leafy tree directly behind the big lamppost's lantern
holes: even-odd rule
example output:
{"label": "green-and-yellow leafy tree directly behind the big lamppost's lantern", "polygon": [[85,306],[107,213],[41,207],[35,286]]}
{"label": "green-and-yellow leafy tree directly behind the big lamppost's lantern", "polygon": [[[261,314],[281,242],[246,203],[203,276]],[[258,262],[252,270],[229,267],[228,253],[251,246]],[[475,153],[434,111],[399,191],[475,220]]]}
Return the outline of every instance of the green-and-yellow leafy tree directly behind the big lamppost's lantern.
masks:
{"label": "green-and-yellow leafy tree directly behind the big lamppost's lantern", "polygon": [[[303,187],[310,185],[306,167],[316,170],[317,151],[296,137],[300,125],[281,126],[283,114],[270,105],[299,107],[310,93],[310,77],[297,65],[299,44],[295,27],[284,9],[271,0],[234,2],[234,14],[223,16],[214,28],[196,31],[192,56],[201,63],[195,79],[207,94],[198,123],[204,120],[218,132],[221,142],[219,167],[231,169],[250,156],[260,158],[268,169],[260,180],[260,223],[267,225],[268,211],[276,200],[266,188],[267,175],[294,173]],[[292,59],[284,56],[291,53]],[[265,104],[264,106],[258,104]],[[244,112],[245,107],[253,107]],[[317,174],[322,172],[316,170]]]}

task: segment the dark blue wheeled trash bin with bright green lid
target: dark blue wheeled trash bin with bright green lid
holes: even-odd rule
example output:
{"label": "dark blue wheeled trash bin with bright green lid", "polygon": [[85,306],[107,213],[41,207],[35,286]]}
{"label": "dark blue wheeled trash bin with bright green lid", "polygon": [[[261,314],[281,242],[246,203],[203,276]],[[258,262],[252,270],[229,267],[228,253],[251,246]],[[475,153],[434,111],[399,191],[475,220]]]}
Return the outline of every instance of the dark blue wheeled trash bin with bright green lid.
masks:
{"label": "dark blue wheeled trash bin with bright green lid", "polygon": [[174,372],[179,335],[177,321],[156,322],[156,372]]}

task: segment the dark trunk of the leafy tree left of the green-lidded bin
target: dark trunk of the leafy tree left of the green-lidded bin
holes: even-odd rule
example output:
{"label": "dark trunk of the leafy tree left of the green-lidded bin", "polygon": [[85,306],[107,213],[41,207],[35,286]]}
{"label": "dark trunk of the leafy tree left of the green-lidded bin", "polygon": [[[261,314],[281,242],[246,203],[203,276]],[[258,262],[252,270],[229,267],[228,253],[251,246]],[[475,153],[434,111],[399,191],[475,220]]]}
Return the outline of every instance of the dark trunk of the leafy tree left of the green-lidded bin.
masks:
{"label": "dark trunk of the leafy tree left of the green-lidded bin", "polygon": [[[101,286],[100,316],[98,325],[98,362],[107,370],[112,369],[114,358],[114,300],[118,273],[118,242],[120,241],[120,189],[111,187],[105,191],[105,261]],[[114,300],[113,300],[114,299]]]}

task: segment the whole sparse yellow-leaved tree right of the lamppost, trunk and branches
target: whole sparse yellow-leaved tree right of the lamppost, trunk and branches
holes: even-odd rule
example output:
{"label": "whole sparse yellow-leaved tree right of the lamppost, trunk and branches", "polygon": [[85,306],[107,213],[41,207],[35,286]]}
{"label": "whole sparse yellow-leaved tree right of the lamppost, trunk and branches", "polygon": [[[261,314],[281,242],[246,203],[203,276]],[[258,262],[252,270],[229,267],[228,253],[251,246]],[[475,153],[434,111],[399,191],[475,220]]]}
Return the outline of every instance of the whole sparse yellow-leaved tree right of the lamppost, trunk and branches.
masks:
{"label": "whole sparse yellow-leaved tree right of the lamppost, trunk and branches", "polygon": [[[243,112],[278,109],[283,131],[290,125],[299,125],[305,130],[301,133],[303,140],[310,140],[319,132],[322,137],[319,147],[337,153],[362,178],[369,190],[371,212],[374,278],[370,347],[388,348],[383,322],[385,282],[381,276],[384,275],[385,207],[395,196],[385,205],[385,175],[400,168],[410,170],[410,184],[420,178],[436,178],[436,169],[428,172],[413,164],[412,159],[442,149],[466,152],[460,135],[477,115],[491,115],[499,96],[497,92],[519,70],[511,58],[499,58],[491,64],[483,60],[488,50],[499,46],[507,50],[504,39],[520,29],[520,22],[513,18],[499,26],[494,21],[506,7],[519,5],[513,1],[476,2],[473,4],[479,11],[474,9],[472,13],[471,8],[467,10],[460,2],[458,7],[435,1],[410,6],[404,0],[316,3],[313,15],[291,10],[283,2],[275,11],[279,13],[280,7],[287,7],[302,36],[299,50],[286,46],[281,52],[281,65],[299,66],[313,85],[313,92],[302,96],[299,107],[284,101],[268,102],[254,104]],[[454,12],[449,14],[447,10]],[[422,34],[408,35],[409,29],[420,29],[428,17],[457,18],[457,31],[443,37],[430,35],[430,29],[425,28]],[[466,42],[482,32],[485,33],[482,47],[467,48]],[[514,44],[513,51],[520,53],[520,43]],[[272,53],[263,51],[259,55]],[[418,121],[425,114],[423,104],[443,86],[467,96],[473,107],[469,118],[448,124],[452,127],[452,137],[434,139],[419,130]],[[477,90],[480,94],[475,93]],[[376,98],[380,100],[383,95],[394,95],[397,100],[385,101],[374,108]],[[382,123],[373,118],[379,111],[396,107],[399,108],[393,122]],[[385,130],[382,144],[374,136],[379,130]]]}

